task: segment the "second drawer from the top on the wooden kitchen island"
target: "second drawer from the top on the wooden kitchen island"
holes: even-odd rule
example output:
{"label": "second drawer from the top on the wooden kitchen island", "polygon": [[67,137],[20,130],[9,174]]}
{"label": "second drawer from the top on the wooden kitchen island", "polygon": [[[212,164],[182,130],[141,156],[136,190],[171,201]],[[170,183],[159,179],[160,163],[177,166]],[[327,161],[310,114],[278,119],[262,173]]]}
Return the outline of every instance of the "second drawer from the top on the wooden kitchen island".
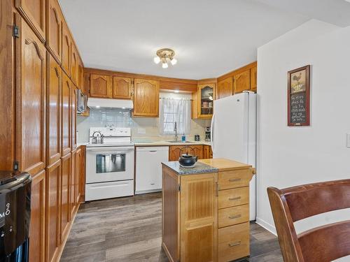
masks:
{"label": "second drawer from the top on the wooden kitchen island", "polygon": [[249,187],[218,191],[218,208],[230,208],[249,203]]}

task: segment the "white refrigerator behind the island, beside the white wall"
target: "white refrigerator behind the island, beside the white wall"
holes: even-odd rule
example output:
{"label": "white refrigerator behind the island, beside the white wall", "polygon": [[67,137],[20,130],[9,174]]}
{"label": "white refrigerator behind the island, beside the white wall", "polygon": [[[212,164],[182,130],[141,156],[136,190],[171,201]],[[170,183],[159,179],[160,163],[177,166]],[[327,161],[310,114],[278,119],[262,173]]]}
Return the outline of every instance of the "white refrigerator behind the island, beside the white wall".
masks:
{"label": "white refrigerator behind the island, beside the white wall", "polygon": [[[211,119],[213,157],[225,158],[255,167],[256,94],[243,92],[214,101]],[[255,175],[250,183],[250,220],[256,216]]]}

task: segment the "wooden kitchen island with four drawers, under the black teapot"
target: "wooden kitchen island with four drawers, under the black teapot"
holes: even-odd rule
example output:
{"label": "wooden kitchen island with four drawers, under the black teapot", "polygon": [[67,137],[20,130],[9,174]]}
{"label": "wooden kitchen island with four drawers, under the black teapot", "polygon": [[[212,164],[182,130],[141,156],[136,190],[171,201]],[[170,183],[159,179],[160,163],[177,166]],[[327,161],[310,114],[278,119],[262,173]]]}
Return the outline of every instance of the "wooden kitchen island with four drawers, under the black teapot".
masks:
{"label": "wooden kitchen island with four drawers, under the black teapot", "polygon": [[162,163],[162,248],[169,261],[249,256],[250,165],[201,159],[194,168]]}

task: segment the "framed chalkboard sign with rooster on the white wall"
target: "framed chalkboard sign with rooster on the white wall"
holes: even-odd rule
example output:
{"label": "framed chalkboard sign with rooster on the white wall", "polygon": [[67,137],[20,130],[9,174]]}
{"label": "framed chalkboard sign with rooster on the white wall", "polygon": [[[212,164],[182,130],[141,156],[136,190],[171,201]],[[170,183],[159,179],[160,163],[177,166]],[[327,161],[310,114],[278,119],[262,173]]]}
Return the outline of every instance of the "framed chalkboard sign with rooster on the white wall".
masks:
{"label": "framed chalkboard sign with rooster on the white wall", "polygon": [[310,66],[288,72],[288,126],[310,125]]}

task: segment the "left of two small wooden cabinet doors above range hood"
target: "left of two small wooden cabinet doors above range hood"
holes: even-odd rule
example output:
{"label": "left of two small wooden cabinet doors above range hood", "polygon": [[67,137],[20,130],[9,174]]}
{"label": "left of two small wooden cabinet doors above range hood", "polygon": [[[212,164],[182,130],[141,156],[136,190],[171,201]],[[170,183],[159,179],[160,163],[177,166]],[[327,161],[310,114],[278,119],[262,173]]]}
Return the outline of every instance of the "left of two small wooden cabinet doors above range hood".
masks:
{"label": "left of two small wooden cabinet doors above range hood", "polygon": [[90,75],[90,97],[112,98],[112,80],[109,75]]}

